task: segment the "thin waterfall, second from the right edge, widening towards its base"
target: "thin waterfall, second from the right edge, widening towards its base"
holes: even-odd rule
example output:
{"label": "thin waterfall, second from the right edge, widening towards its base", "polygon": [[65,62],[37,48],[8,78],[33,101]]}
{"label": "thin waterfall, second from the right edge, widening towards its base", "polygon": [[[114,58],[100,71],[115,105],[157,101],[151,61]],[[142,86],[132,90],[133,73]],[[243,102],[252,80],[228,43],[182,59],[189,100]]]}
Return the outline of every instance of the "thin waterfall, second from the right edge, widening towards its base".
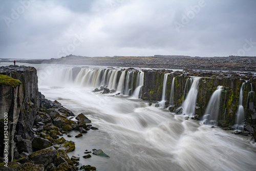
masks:
{"label": "thin waterfall, second from the right edge, widening towards its base", "polygon": [[236,125],[239,130],[243,130],[242,121],[244,120],[244,106],[243,106],[243,95],[244,95],[244,85],[245,82],[243,82],[240,94],[239,94],[239,105],[238,105],[238,111],[237,111],[237,119],[236,119]]}

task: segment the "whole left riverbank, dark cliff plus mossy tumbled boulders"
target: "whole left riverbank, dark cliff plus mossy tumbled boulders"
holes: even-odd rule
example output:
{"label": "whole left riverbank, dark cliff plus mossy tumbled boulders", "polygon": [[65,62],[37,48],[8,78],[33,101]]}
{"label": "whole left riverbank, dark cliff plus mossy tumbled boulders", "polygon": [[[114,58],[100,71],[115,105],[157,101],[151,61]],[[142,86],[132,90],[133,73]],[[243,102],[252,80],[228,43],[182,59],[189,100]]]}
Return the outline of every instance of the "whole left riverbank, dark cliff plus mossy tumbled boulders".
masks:
{"label": "whole left riverbank, dark cliff plus mossy tumbled boulders", "polygon": [[[90,165],[77,167],[79,157],[69,158],[67,155],[75,150],[75,143],[62,137],[63,134],[71,136],[69,132],[72,130],[80,132],[74,138],[91,129],[97,130],[89,124],[91,120],[83,114],[75,117],[58,101],[45,99],[38,92],[34,68],[1,67],[0,74],[4,74],[0,75],[1,118],[4,118],[2,114],[8,113],[9,122],[8,138],[3,137],[3,132],[0,136],[0,170],[96,170]],[[4,125],[4,119],[1,119],[1,130]],[[5,152],[9,162],[3,156],[4,139],[9,140],[9,151]]]}

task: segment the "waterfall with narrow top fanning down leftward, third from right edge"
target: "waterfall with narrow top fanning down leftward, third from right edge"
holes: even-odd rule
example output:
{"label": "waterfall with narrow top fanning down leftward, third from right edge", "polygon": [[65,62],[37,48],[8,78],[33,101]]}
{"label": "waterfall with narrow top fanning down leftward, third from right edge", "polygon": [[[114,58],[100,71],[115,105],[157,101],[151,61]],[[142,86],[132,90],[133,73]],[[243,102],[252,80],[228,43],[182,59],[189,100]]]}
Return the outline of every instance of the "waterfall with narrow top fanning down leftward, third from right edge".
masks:
{"label": "waterfall with narrow top fanning down leftward, third from right edge", "polygon": [[223,89],[223,86],[218,86],[216,91],[211,95],[203,116],[203,121],[205,124],[217,125],[221,92]]}

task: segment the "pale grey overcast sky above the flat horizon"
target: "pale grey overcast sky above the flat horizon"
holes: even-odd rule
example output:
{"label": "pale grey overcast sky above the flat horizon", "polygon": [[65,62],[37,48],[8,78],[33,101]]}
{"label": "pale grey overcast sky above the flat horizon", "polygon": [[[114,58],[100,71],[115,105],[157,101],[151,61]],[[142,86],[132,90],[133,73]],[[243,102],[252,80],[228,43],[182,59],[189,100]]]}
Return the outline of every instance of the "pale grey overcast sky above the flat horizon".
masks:
{"label": "pale grey overcast sky above the flat horizon", "polygon": [[0,3],[0,58],[256,56],[255,0]]}

